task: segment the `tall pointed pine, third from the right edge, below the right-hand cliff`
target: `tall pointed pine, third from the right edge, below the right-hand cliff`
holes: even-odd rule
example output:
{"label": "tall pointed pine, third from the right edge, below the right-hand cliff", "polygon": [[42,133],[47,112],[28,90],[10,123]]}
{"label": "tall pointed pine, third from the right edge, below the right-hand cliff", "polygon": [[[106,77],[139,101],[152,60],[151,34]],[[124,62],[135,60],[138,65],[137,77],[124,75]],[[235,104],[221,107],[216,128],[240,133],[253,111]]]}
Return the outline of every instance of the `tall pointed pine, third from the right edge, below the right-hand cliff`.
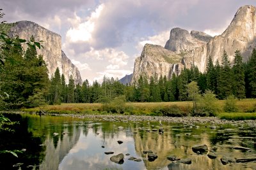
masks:
{"label": "tall pointed pine, third from the right edge, below the right-hand cliff", "polygon": [[230,67],[230,60],[227,52],[224,51],[221,57],[220,82],[218,85],[219,99],[225,99],[232,95],[233,74]]}

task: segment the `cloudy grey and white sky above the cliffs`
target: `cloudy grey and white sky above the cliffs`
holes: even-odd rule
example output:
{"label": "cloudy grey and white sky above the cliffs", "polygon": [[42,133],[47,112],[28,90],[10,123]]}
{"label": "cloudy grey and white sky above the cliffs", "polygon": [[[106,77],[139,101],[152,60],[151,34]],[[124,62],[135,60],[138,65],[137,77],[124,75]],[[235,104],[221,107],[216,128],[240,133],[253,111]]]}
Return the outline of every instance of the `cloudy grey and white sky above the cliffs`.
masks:
{"label": "cloudy grey and white sky above the cliffs", "polygon": [[83,80],[133,72],[145,43],[164,46],[180,27],[211,36],[255,0],[1,0],[4,20],[29,20],[61,35],[62,49]]}

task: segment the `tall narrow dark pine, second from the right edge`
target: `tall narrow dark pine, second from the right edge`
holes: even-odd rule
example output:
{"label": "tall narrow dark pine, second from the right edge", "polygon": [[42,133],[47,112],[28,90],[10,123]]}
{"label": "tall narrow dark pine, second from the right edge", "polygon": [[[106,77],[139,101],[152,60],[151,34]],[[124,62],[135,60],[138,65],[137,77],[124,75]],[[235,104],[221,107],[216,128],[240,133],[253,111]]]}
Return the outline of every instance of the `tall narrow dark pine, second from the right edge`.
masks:
{"label": "tall narrow dark pine, second from the right edge", "polygon": [[238,99],[244,99],[245,97],[245,82],[244,82],[244,67],[243,58],[239,50],[235,52],[234,59],[234,94]]}

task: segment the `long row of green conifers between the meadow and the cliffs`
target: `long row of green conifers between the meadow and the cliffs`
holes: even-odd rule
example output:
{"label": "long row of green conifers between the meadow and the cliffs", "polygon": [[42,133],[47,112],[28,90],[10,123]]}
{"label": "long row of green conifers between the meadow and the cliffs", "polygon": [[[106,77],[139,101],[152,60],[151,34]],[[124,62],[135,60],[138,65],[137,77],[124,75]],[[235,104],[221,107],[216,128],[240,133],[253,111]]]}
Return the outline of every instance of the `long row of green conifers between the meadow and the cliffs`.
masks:
{"label": "long row of green conifers between the meadow and the cliffs", "polygon": [[[179,76],[172,75],[168,80],[166,76],[140,76],[134,85],[122,85],[114,78],[104,76],[102,83],[93,81],[90,85],[85,80],[82,85],[74,85],[70,80],[65,85],[64,76],[60,76],[58,70],[52,78],[52,92],[58,99],[51,100],[53,103],[98,103],[111,101],[117,96],[125,96],[130,102],[162,102],[162,101],[188,101],[188,84],[195,81],[201,94],[205,90],[211,90],[218,99],[227,99],[234,95],[238,99],[256,97],[256,50],[253,49],[248,62],[243,62],[239,50],[234,53],[234,64],[231,67],[227,52],[223,52],[221,63],[217,60],[214,65],[209,57],[205,73],[200,73],[198,67],[184,68]],[[56,80],[55,80],[56,79]],[[58,82],[57,84],[54,82]],[[54,89],[60,89],[55,90]],[[73,89],[73,90],[72,90]],[[54,96],[51,95],[51,99]],[[58,101],[58,102],[56,102]]]}

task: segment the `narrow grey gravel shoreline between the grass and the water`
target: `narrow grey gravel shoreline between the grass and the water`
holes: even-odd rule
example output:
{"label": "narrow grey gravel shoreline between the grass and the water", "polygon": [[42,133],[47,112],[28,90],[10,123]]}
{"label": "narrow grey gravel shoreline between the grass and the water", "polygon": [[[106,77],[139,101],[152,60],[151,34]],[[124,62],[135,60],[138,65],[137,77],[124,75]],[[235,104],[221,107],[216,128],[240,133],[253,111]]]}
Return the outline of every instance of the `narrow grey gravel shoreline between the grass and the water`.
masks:
{"label": "narrow grey gravel shoreline between the grass and the water", "polygon": [[70,115],[51,114],[52,116],[88,118],[108,122],[167,122],[181,124],[246,124],[256,127],[256,120],[221,120],[218,117],[152,117],[145,115]]}

